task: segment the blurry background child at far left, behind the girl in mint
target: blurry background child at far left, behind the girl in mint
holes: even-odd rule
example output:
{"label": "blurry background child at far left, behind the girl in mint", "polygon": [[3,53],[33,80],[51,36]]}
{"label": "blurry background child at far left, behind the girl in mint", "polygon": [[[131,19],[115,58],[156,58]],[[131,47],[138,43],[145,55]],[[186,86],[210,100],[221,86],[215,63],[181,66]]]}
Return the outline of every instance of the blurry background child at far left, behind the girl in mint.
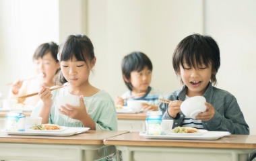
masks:
{"label": "blurry background child at far left, behind the girl in mint", "polygon": [[[35,62],[36,73],[41,73],[42,76],[28,80],[15,80],[9,91],[8,99],[18,99],[22,95],[36,93],[42,85],[44,87],[52,87],[54,85],[53,77],[60,68],[59,60],[57,60],[58,47],[54,42],[44,43],[38,46],[33,60]],[[18,99],[18,103],[32,106],[36,105],[38,101],[38,96]]]}

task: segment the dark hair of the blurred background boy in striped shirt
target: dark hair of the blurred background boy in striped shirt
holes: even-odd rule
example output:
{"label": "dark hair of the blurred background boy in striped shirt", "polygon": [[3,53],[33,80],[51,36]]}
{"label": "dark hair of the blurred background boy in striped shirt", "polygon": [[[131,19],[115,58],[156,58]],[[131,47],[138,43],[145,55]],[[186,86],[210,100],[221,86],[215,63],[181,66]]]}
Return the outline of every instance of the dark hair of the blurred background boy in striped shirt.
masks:
{"label": "dark hair of the blurred background boy in striped shirt", "polygon": [[[151,71],[153,70],[150,58],[148,58],[148,56],[146,56],[146,54],[144,54],[143,52],[131,52],[131,54],[128,54],[127,56],[125,56],[125,58],[123,58],[121,66],[123,76],[125,76],[127,80],[131,78],[132,71],[140,72],[145,66],[148,66],[148,69],[150,69]],[[125,85],[130,91],[132,91],[133,85],[131,85],[131,83],[125,81]]]}

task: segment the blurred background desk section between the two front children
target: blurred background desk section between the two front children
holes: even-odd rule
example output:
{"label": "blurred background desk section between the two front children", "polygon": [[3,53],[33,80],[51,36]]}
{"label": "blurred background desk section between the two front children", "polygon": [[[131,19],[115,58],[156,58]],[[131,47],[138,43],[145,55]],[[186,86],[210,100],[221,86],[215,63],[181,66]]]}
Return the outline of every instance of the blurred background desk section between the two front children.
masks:
{"label": "blurred background desk section between the two front children", "polygon": [[117,125],[123,131],[146,131],[147,113],[117,113]]}

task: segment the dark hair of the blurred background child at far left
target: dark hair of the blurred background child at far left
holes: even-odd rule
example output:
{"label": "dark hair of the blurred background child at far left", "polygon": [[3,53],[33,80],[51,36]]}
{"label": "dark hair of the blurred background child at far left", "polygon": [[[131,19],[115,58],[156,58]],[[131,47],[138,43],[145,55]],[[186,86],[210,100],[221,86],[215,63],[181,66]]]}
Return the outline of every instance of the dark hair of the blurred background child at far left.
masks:
{"label": "dark hair of the blurred background child at far left", "polygon": [[58,48],[59,46],[55,44],[55,42],[41,44],[40,46],[38,46],[38,48],[36,48],[36,51],[34,52],[33,60],[42,58],[45,54],[47,54],[48,52],[51,52],[53,58],[55,59],[55,62],[59,62],[59,60],[57,59]]}

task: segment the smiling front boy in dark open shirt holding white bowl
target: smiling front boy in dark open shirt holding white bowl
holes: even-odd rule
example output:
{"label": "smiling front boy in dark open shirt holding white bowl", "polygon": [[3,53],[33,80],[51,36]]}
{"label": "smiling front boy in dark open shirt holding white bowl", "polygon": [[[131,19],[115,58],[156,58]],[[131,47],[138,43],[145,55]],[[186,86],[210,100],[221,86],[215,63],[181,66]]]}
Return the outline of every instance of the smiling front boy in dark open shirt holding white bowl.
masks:
{"label": "smiling front boy in dark open shirt holding white bowl", "polygon": [[[173,128],[190,126],[210,131],[229,131],[232,134],[249,134],[249,126],[236,102],[236,98],[216,85],[220,68],[220,50],[210,36],[193,34],[183,39],[174,50],[172,66],[181,76],[183,87],[164,97],[169,104],[160,103],[162,119],[173,119]],[[181,103],[194,96],[206,99],[207,109],[191,119],[181,112]],[[179,97],[179,100],[176,98]]]}

